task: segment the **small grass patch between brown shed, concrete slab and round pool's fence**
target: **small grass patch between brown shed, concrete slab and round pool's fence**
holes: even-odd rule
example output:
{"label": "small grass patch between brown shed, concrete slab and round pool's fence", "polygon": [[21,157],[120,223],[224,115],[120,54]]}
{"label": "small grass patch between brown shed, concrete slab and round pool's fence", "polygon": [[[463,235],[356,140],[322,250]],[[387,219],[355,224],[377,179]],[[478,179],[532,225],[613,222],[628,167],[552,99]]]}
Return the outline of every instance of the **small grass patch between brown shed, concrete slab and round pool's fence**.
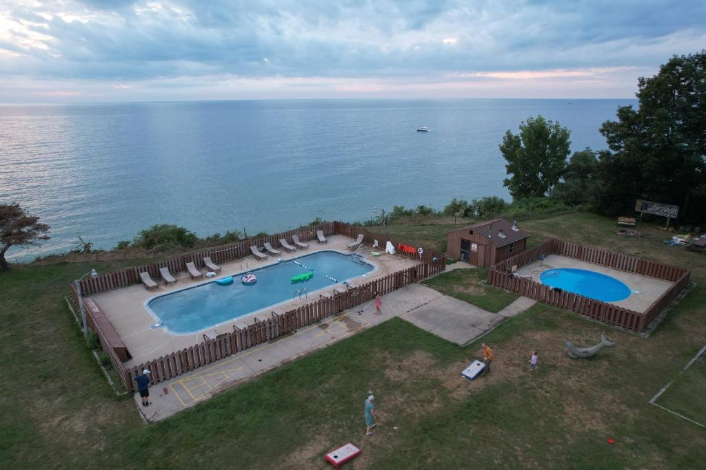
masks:
{"label": "small grass patch between brown shed, concrete slab and round pool's fence", "polygon": [[433,287],[442,294],[474,304],[487,311],[498,312],[507,307],[519,295],[485,284],[486,269],[454,269],[421,283]]}

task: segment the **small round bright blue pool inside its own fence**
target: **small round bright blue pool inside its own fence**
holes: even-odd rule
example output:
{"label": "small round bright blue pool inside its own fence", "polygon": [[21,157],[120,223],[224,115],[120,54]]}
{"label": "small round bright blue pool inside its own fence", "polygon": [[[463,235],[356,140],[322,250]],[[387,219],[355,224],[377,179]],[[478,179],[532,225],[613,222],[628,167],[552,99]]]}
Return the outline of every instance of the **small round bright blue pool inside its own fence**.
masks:
{"label": "small round bright blue pool inside its own fence", "polygon": [[556,268],[544,271],[539,276],[543,284],[568,290],[584,297],[616,302],[627,299],[632,293],[621,280],[586,269]]}

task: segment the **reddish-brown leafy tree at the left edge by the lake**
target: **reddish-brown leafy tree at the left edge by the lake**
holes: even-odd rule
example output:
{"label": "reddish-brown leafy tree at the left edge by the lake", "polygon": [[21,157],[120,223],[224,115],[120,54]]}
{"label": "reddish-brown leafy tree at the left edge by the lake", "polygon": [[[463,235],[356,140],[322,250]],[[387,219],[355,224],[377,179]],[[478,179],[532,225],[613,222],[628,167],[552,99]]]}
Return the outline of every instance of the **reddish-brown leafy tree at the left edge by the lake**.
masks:
{"label": "reddish-brown leafy tree at the left edge by the lake", "polygon": [[20,204],[0,204],[0,271],[10,266],[5,253],[10,247],[33,245],[36,240],[49,240],[49,225],[40,223],[40,218],[30,216]]}

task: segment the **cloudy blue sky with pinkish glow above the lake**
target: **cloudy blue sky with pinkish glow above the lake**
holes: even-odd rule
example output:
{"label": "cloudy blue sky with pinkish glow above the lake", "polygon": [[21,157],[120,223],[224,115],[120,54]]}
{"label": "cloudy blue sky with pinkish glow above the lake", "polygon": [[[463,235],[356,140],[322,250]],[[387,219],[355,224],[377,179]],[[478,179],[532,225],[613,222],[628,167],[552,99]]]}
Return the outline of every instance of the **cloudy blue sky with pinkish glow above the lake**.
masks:
{"label": "cloudy blue sky with pinkish glow above the lake", "polygon": [[0,103],[633,98],[706,1],[0,0]]}

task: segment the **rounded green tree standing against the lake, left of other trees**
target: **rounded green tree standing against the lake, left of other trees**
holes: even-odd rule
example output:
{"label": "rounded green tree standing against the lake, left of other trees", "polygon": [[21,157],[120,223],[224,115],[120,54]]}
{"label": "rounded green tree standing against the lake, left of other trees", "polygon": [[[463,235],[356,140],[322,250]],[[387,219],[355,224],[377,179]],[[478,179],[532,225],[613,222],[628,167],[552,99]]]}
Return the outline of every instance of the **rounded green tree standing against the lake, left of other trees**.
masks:
{"label": "rounded green tree standing against the lake, left of other trees", "polygon": [[505,132],[500,151],[510,178],[503,183],[513,198],[543,197],[558,182],[570,153],[571,132],[542,116],[520,124],[520,135]]}

